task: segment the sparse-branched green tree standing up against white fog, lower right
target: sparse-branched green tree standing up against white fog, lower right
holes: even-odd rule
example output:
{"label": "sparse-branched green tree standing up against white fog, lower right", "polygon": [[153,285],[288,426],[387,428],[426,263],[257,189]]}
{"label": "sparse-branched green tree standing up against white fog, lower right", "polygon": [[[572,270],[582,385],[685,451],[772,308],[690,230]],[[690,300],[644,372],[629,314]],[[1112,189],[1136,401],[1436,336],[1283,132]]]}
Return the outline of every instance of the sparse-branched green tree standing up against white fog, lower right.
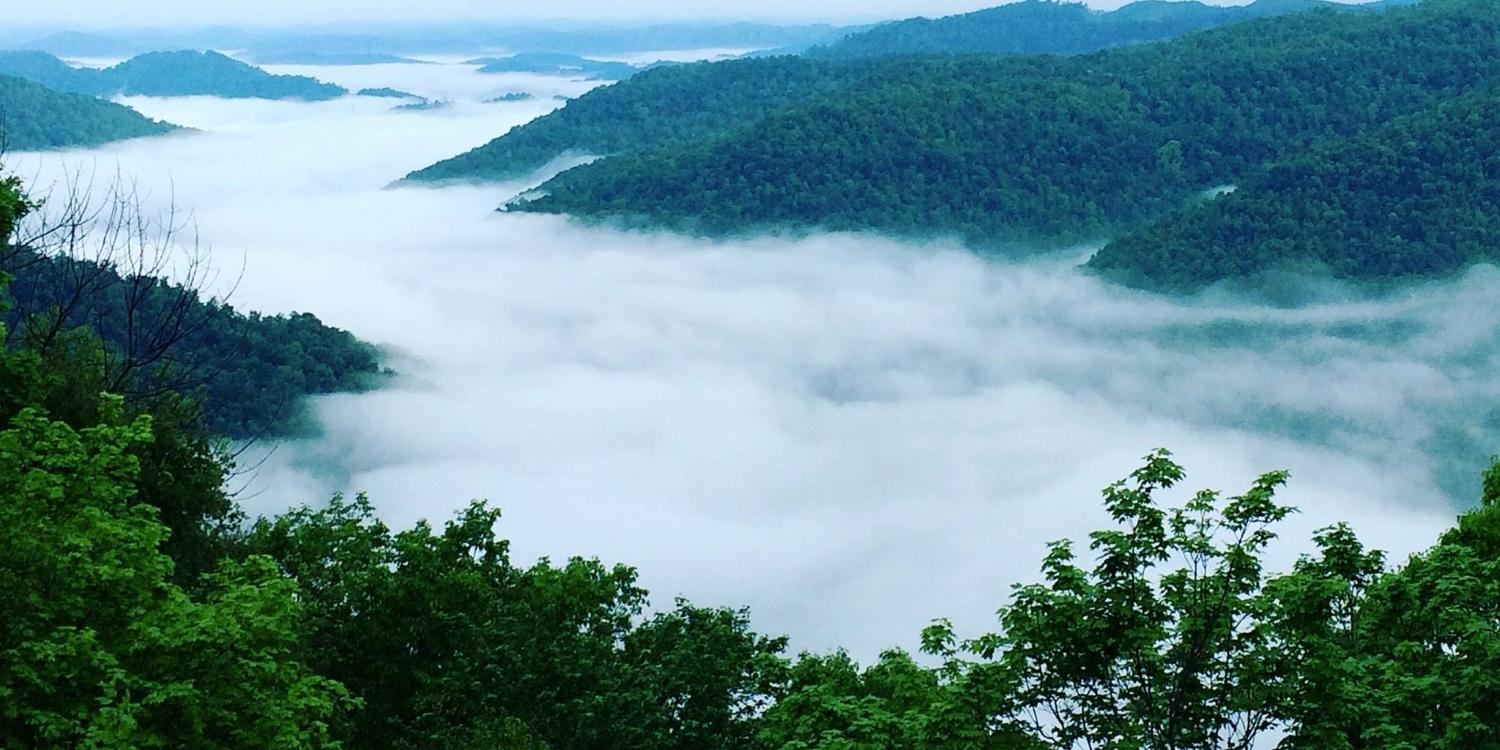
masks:
{"label": "sparse-branched green tree standing up against white fog, lower right", "polygon": [[[1004,630],[963,644],[994,660],[978,670],[1002,692],[988,726],[1040,747],[1143,750],[1248,748],[1275,726],[1282,662],[1262,554],[1292,513],[1275,502],[1286,474],[1160,507],[1184,476],[1168,453],[1148,456],[1104,492],[1118,528],[1090,536],[1096,562],[1052,544],[1046,582],[1016,590]],[[945,624],[926,639],[954,657]]]}

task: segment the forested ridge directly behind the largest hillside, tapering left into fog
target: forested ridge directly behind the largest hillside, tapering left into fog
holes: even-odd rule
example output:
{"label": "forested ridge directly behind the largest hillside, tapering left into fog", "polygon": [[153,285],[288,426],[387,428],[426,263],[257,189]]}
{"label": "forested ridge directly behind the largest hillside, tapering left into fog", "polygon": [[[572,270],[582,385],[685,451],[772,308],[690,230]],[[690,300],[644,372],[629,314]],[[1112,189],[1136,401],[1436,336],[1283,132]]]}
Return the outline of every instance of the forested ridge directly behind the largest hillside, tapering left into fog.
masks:
{"label": "forested ridge directly behind the largest hillside, tapering left into fog", "polygon": [[406,180],[513,180],[561,156],[608,156],[690,142],[870,80],[885,66],[766,57],[654,68],[594,88],[472,152],[411,172]]}

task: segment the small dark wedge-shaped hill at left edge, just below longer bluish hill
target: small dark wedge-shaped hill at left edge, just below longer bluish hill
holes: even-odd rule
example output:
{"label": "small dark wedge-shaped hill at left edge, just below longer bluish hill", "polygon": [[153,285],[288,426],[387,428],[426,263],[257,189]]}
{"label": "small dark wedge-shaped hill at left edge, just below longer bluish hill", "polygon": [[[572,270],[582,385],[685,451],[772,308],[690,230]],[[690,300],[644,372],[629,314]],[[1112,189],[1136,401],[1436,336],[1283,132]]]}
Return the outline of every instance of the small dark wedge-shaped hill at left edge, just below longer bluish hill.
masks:
{"label": "small dark wedge-shaped hill at left edge, just below longer bluish hill", "polygon": [[129,106],[0,75],[0,152],[90,147],[176,129]]}

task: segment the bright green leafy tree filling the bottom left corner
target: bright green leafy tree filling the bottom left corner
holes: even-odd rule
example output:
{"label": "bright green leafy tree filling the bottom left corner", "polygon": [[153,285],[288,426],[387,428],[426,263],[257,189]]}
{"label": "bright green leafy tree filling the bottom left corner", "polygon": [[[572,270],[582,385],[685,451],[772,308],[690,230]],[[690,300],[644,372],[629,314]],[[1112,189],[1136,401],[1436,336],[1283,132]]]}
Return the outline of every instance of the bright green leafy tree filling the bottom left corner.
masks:
{"label": "bright green leafy tree filling the bottom left corner", "polygon": [[350,700],[294,658],[294,584],[264,558],[222,566],[204,602],[171,584],[136,498],[148,418],[102,411],[0,432],[0,747],[339,747]]}

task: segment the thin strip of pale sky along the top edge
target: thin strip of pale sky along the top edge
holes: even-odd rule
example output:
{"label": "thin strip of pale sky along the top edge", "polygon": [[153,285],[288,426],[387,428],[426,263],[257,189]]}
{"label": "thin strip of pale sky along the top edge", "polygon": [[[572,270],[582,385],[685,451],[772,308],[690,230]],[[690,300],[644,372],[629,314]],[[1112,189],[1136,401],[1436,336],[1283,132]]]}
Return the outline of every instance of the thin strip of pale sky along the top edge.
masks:
{"label": "thin strip of pale sky along the top edge", "polygon": [[[1002,4],[1002,0],[3,0],[8,26],[206,26],[304,24],[333,21],[459,21],[490,22],[579,20],[770,20],[855,22],[915,15],[939,16]],[[1113,9],[1126,0],[1089,0]],[[1242,4],[1206,0],[1210,4]]]}

